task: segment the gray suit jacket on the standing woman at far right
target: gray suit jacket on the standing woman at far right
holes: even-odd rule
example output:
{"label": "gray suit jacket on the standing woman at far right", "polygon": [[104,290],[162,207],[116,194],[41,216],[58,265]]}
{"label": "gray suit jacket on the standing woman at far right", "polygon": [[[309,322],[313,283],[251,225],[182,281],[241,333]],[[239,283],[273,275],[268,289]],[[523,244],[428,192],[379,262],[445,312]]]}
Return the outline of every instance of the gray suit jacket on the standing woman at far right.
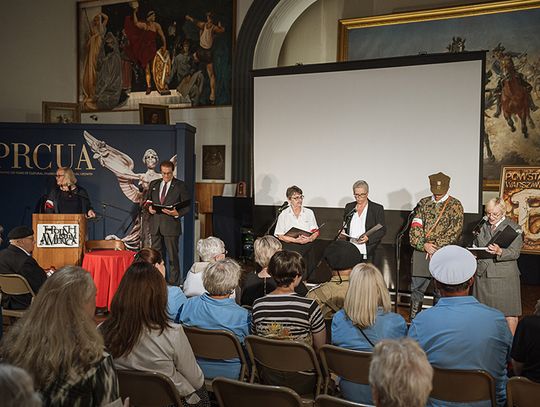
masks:
{"label": "gray suit jacket on the standing woman at far right", "polygon": [[[500,230],[510,225],[514,230],[520,230],[517,223],[505,218],[494,231],[491,230],[489,223],[485,223],[480,228],[480,233],[474,239],[474,244],[478,247],[484,247],[491,240],[493,235]],[[523,234],[519,233],[510,246],[502,249],[500,256],[495,256],[493,259],[478,259],[478,268],[476,273],[483,276],[487,273],[487,277],[507,277],[511,275],[519,275],[517,259],[523,246]]]}

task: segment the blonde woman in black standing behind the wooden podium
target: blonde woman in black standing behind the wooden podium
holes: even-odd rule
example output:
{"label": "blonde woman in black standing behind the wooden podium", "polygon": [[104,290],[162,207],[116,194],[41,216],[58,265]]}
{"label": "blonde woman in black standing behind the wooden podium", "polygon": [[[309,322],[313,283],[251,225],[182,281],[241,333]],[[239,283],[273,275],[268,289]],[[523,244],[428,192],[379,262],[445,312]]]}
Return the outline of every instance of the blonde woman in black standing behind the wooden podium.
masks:
{"label": "blonde woman in black standing behind the wooden podium", "polygon": [[45,213],[83,213],[94,218],[96,213],[86,189],[77,184],[71,168],[56,170],[56,187],[47,195]]}

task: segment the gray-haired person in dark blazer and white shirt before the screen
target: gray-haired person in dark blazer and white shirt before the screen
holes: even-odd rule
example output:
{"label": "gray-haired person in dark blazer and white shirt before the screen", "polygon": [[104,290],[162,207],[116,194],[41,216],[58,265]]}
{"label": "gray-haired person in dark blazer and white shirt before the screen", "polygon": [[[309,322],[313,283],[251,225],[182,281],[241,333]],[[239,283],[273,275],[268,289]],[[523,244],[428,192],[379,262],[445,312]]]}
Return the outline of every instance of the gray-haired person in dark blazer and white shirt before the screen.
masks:
{"label": "gray-haired person in dark blazer and white shirt before the screen", "polygon": [[[345,205],[343,212],[344,231],[354,237],[349,239],[356,245],[364,259],[374,263],[375,250],[386,233],[384,208],[368,199],[369,185],[366,181],[356,181],[353,184],[353,195],[355,202]],[[370,236],[363,235],[377,224],[382,228]],[[362,237],[359,238],[360,236]]]}

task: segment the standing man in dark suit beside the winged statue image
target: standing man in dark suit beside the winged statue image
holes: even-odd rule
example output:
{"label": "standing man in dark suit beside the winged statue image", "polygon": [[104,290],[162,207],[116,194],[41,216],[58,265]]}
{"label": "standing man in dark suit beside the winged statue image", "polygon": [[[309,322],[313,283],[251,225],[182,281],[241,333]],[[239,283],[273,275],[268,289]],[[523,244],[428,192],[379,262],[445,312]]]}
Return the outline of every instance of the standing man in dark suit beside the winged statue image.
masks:
{"label": "standing man in dark suit beside the winged statue image", "polygon": [[[189,212],[189,192],[186,184],[174,178],[174,164],[171,161],[163,161],[160,165],[162,179],[154,180],[148,188],[147,201],[150,201],[150,234],[152,248],[158,250],[163,258],[165,246],[169,260],[168,282],[171,285],[182,283],[180,262],[178,260],[178,237],[182,234],[181,217]],[[152,204],[170,206],[172,209],[163,208],[161,211]]]}

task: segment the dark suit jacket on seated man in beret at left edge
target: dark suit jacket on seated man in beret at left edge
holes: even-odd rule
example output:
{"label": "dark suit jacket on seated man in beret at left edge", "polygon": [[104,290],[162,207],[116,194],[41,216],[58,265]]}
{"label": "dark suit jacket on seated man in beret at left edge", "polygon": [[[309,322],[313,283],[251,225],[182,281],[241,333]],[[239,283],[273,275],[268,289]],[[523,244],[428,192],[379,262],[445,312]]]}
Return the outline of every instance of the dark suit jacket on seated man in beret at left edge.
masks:
{"label": "dark suit jacket on seated man in beret at left edge", "polygon": [[[36,294],[47,280],[47,274],[45,274],[37,261],[14,245],[9,245],[6,249],[0,251],[0,273],[23,276]],[[2,298],[2,303],[8,309],[28,308],[31,301],[32,295],[30,294],[11,295]]]}

